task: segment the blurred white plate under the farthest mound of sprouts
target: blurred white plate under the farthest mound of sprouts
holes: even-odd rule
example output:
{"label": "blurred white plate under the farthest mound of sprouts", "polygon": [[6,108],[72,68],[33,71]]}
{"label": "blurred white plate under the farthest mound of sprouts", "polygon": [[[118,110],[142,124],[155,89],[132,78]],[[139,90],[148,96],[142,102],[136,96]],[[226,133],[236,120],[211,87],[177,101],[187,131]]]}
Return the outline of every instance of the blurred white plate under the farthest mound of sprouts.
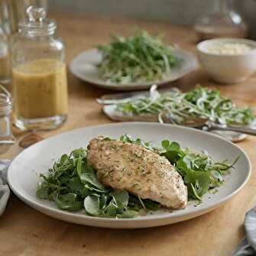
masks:
{"label": "blurred white plate under the farthest mound of sprouts", "polygon": [[186,50],[175,49],[173,50],[173,55],[179,58],[181,61],[178,66],[172,68],[170,76],[167,76],[166,79],[160,81],[128,84],[107,83],[102,79],[97,67],[102,60],[102,54],[96,49],[86,50],[75,57],[70,63],[70,71],[73,73],[73,75],[79,77],[79,79],[106,89],[149,89],[152,84],[162,85],[164,83],[180,79],[181,77],[195,70],[198,66],[196,57]]}

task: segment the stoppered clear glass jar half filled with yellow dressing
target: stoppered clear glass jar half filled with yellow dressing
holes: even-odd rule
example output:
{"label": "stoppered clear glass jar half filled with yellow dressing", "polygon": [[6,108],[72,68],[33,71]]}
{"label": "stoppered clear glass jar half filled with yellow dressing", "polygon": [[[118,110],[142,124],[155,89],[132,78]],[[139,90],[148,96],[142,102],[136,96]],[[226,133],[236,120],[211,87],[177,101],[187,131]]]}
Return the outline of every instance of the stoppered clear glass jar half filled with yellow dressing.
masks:
{"label": "stoppered clear glass jar half filled with yellow dressing", "polygon": [[11,42],[15,125],[53,129],[68,114],[65,47],[44,8],[30,6]]}

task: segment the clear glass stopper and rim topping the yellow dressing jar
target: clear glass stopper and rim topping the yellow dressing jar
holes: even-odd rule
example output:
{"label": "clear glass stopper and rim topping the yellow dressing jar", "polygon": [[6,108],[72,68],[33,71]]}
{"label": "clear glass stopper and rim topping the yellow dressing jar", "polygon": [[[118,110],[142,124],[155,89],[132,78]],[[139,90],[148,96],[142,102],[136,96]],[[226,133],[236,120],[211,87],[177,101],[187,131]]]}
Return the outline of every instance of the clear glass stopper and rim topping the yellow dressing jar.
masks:
{"label": "clear glass stopper and rim topping the yellow dressing jar", "polygon": [[31,36],[54,34],[57,24],[47,18],[44,8],[31,5],[27,9],[28,18],[19,23],[21,33]]}

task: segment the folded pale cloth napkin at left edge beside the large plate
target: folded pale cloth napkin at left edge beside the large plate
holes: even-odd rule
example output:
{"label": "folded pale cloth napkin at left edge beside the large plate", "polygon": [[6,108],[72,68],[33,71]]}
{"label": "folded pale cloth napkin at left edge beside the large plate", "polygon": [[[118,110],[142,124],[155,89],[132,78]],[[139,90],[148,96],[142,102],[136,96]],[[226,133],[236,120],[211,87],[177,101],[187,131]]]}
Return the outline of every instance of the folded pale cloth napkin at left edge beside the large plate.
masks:
{"label": "folded pale cloth napkin at left edge beside the large plate", "polygon": [[5,211],[10,197],[10,189],[6,180],[6,173],[10,163],[10,160],[0,160],[0,216]]}

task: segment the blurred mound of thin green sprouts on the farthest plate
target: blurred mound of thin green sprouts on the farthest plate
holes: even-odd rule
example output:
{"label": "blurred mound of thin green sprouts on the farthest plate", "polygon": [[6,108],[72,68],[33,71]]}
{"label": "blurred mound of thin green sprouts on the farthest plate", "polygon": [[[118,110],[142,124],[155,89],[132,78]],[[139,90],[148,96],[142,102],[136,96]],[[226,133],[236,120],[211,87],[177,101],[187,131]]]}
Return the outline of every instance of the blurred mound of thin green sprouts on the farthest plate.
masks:
{"label": "blurred mound of thin green sprouts on the farthest plate", "polygon": [[99,70],[111,83],[160,80],[177,65],[172,48],[146,31],[138,31],[133,37],[113,36],[110,44],[98,49],[102,52]]}

